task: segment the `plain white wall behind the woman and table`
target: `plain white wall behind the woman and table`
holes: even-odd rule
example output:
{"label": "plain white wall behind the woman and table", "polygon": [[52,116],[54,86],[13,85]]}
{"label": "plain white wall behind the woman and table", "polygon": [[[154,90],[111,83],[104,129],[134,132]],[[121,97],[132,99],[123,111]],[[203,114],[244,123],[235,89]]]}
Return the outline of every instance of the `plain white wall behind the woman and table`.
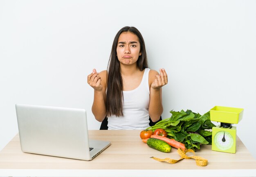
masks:
{"label": "plain white wall behind the woman and table", "polygon": [[135,26],[151,69],[165,68],[163,118],[244,108],[237,134],[256,157],[256,1],[0,0],[0,149],[18,133],[15,103],[85,108],[86,76],[105,70],[115,34]]}

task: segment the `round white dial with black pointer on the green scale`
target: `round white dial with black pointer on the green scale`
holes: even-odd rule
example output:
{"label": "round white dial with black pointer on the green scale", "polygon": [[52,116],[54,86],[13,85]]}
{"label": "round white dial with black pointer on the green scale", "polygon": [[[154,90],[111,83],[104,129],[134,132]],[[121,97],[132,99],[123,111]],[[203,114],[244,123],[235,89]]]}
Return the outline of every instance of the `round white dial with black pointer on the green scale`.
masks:
{"label": "round white dial with black pointer on the green scale", "polygon": [[233,146],[234,140],[229,132],[218,131],[214,136],[214,143],[220,150],[227,150]]}

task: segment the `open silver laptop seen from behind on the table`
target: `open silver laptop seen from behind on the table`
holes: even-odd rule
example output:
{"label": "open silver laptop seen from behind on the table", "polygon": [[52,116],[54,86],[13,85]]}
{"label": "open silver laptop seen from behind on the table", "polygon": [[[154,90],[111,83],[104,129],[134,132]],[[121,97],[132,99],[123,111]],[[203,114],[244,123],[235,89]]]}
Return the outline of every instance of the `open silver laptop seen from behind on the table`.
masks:
{"label": "open silver laptop seen from behind on the table", "polygon": [[16,114],[24,153],[92,160],[111,144],[89,140],[85,109],[16,104]]}

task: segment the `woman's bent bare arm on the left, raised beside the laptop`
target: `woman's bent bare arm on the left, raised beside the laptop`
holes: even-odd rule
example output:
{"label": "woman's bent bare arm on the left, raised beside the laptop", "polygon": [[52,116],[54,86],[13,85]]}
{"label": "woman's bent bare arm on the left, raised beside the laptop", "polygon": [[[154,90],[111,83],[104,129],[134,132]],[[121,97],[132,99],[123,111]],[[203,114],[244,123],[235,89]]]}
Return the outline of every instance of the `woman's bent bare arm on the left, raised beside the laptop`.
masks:
{"label": "woman's bent bare arm on the left, raised beside the laptop", "polygon": [[106,77],[106,70],[97,73],[95,69],[87,77],[88,84],[94,89],[92,114],[99,122],[106,117]]}

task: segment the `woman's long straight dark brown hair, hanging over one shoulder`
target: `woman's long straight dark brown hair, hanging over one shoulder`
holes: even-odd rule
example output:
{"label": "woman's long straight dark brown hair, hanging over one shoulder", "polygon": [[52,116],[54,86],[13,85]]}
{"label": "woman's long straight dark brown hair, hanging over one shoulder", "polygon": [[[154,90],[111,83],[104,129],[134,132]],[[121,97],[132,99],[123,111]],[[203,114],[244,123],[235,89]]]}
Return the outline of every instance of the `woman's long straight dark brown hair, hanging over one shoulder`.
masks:
{"label": "woman's long straight dark brown hair, hanging over one shoulder", "polygon": [[117,42],[121,33],[130,32],[139,38],[141,55],[137,60],[139,70],[148,68],[148,60],[144,39],[139,30],[133,26],[125,26],[118,31],[113,41],[110,58],[108,61],[108,79],[107,79],[107,98],[106,98],[106,114],[107,116],[124,116],[123,114],[123,79],[120,72],[120,63],[117,58]]}

